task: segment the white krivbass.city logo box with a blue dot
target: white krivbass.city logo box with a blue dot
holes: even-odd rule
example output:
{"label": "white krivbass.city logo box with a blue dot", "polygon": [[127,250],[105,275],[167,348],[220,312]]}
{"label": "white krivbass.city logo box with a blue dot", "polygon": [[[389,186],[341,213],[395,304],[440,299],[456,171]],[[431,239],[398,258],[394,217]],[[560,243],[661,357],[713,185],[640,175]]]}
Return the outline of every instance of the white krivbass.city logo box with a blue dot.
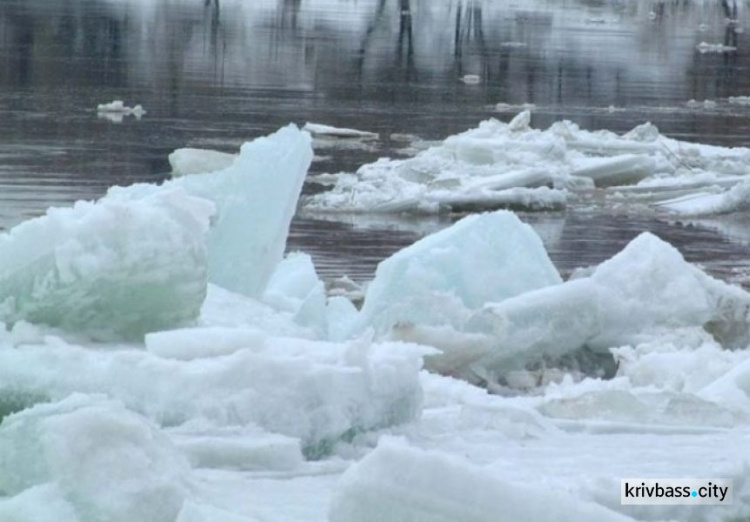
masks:
{"label": "white krivbass.city logo box with a blue dot", "polygon": [[622,479],[622,505],[705,506],[732,503],[732,479]]}

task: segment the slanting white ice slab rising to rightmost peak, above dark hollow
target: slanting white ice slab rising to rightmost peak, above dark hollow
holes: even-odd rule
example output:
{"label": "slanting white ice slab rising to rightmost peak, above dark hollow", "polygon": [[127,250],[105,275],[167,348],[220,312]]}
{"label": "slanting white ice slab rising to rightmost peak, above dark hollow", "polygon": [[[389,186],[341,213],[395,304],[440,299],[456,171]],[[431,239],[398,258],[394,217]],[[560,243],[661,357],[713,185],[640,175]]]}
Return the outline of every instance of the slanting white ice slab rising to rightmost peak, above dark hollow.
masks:
{"label": "slanting white ice slab rising to rightmost peak, above dark hollow", "polygon": [[605,350],[650,331],[685,326],[704,327],[725,346],[742,346],[747,344],[748,311],[750,294],[706,275],[674,247],[644,233],[590,277],[476,313],[467,330],[494,336],[496,348],[464,371],[494,380],[543,356],[584,346]]}

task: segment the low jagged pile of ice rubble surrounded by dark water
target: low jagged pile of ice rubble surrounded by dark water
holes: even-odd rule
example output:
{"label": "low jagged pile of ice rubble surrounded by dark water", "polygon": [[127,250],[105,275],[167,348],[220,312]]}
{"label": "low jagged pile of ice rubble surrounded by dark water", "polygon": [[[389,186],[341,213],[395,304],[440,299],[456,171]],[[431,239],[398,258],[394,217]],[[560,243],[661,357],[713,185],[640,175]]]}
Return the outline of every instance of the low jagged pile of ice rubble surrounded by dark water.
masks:
{"label": "low jagged pile of ice rubble surrounded by dark water", "polygon": [[[568,121],[529,127],[490,119],[403,160],[381,159],[355,174],[319,176],[333,188],[304,199],[310,212],[441,212],[497,207],[559,209],[593,187],[635,201],[666,200],[743,180],[748,149],[680,142],[644,124],[617,135]],[[313,178],[317,179],[317,178]]]}

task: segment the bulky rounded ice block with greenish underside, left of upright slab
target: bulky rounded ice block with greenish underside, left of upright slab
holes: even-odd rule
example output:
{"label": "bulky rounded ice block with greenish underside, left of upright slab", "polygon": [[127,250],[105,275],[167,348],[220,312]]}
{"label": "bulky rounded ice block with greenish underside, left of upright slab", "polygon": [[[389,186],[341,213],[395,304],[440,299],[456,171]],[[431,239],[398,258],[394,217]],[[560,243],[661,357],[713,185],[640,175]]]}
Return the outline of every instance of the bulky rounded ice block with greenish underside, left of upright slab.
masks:
{"label": "bulky rounded ice block with greenish underside, left of upright slab", "polygon": [[195,319],[214,211],[179,188],[135,186],[0,234],[0,321],[137,338]]}

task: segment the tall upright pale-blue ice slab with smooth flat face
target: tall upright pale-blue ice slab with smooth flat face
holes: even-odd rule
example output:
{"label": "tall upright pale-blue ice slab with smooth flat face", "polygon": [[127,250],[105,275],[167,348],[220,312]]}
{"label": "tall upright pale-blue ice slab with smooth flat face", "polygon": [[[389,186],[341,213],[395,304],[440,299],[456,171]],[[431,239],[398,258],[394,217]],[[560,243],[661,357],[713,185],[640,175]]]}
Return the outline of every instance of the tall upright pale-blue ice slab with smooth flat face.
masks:
{"label": "tall upright pale-blue ice slab with smooth flat face", "polygon": [[310,135],[289,125],[245,143],[231,167],[172,183],[216,204],[209,280],[260,298],[286,247],[313,152]]}

